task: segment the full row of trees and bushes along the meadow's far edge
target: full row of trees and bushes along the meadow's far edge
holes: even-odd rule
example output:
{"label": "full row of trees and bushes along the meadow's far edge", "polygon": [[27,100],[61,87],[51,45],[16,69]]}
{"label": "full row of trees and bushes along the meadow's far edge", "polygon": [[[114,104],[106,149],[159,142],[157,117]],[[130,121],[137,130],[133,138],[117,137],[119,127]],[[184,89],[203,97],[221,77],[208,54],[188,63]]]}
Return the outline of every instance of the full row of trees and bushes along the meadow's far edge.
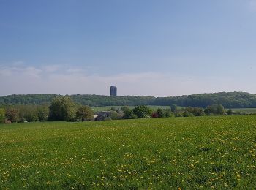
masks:
{"label": "full row of trees and bushes along the meadow's far edge", "polygon": [[[106,117],[102,119],[102,113]],[[105,114],[107,113],[107,114]],[[232,110],[227,113],[232,115]],[[94,121],[94,111],[87,105],[78,105],[70,96],[58,96],[52,100],[50,106],[45,105],[17,105],[0,108],[1,123],[34,122],[34,121]],[[134,109],[121,107],[110,112],[100,112],[97,117],[102,120],[135,119],[135,118],[170,118],[192,117],[203,115],[225,115],[222,104],[213,104],[203,109],[201,107],[186,107],[178,110],[176,104],[169,109],[152,110],[145,105],[138,105]],[[96,116],[96,115],[95,115]]]}

